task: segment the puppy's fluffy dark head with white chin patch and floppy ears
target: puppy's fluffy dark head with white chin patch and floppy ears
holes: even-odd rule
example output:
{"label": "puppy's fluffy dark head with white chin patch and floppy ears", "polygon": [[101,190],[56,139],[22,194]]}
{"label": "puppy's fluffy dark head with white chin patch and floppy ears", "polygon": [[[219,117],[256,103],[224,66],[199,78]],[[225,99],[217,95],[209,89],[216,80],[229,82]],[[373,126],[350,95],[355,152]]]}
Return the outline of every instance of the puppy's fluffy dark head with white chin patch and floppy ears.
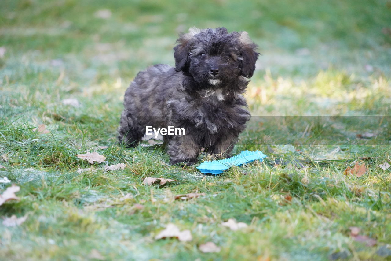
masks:
{"label": "puppy's fluffy dark head with white chin patch and floppy ears", "polygon": [[228,33],[224,27],[189,29],[174,47],[177,71],[190,73],[201,85],[219,86],[239,76],[251,78],[259,53],[247,32]]}

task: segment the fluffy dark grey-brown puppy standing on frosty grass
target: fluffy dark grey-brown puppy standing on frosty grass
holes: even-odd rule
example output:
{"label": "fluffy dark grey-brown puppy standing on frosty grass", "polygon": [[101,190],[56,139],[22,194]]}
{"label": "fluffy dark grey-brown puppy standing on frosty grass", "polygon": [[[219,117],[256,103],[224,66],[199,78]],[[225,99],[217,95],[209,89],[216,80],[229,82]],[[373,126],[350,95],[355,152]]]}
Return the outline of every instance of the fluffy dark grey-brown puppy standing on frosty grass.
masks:
{"label": "fluffy dark grey-brown puppy standing on frosty grass", "polygon": [[202,148],[230,157],[250,118],[241,95],[259,53],[247,32],[224,27],[189,29],[174,47],[175,67],[157,64],[139,72],[127,88],[118,139],[133,147],[153,128],[185,129],[165,135],[170,164],[192,165]]}

